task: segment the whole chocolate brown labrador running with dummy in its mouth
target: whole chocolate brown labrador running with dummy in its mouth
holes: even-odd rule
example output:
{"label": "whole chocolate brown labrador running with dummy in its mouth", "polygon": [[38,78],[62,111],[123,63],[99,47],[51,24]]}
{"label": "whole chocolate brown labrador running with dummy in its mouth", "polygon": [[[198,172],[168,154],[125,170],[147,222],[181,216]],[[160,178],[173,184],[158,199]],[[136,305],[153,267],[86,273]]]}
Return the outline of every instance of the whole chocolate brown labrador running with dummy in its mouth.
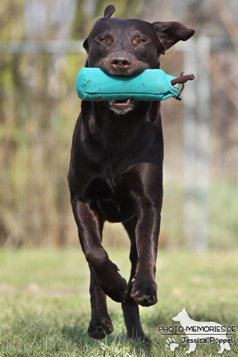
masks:
{"label": "whole chocolate brown labrador running with dummy in its mouth", "polygon": [[[159,57],[194,30],[179,22],[110,18],[107,6],[84,41],[86,67],[132,76],[159,68]],[[113,325],[106,295],[122,303],[129,338],[145,339],[139,307],[157,302],[155,264],[163,197],[161,103],[82,101],[68,182],[78,235],[91,272],[88,334],[101,339]],[[128,284],[101,245],[104,221],[122,222],[131,248]]]}

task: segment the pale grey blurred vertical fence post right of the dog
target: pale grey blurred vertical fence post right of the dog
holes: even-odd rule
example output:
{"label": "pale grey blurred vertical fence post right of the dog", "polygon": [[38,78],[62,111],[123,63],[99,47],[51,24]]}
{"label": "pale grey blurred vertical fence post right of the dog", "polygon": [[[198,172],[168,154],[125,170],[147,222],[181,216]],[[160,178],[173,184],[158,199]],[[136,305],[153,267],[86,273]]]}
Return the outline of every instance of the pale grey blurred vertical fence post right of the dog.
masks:
{"label": "pale grey blurred vertical fence post right of the dog", "polygon": [[205,37],[188,44],[184,48],[184,73],[194,73],[195,81],[185,86],[183,94],[183,233],[186,246],[206,251],[210,44]]}

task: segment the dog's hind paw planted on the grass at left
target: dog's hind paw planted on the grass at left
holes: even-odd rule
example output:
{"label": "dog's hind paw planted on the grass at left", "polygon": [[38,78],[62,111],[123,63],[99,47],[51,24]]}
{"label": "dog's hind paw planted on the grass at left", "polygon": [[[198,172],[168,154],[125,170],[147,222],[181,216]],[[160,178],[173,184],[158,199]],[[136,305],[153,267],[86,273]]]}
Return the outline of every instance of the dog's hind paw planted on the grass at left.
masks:
{"label": "dog's hind paw planted on the grass at left", "polygon": [[101,319],[92,319],[89,323],[88,335],[93,339],[103,339],[113,331],[113,324],[110,317]]}

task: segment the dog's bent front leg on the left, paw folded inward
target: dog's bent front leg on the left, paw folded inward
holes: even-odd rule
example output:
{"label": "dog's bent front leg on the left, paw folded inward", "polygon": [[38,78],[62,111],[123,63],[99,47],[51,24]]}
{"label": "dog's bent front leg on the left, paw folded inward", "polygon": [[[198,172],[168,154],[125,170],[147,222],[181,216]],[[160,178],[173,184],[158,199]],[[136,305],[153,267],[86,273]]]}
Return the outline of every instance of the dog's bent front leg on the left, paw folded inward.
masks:
{"label": "dog's bent front leg on the left, paw folded inward", "polygon": [[127,283],[101,245],[99,214],[96,208],[77,197],[74,197],[71,203],[81,245],[86,260],[94,271],[97,284],[114,301],[123,302]]}

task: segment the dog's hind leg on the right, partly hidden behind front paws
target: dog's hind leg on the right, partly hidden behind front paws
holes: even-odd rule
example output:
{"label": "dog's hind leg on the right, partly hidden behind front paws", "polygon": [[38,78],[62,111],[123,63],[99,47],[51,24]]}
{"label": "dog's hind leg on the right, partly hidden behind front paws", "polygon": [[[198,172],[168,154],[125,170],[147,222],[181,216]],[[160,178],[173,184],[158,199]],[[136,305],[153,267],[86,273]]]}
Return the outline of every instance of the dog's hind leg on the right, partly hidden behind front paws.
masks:
{"label": "dog's hind leg on the right, partly hidden behind front paws", "polygon": [[135,236],[135,228],[137,224],[136,216],[129,221],[123,222],[126,232],[130,238],[130,261],[131,261],[131,271],[130,278],[127,285],[127,294],[125,297],[125,302],[122,303],[122,311],[123,317],[127,330],[127,337],[134,339],[141,339],[147,341],[145,334],[143,332],[141,322],[140,322],[140,314],[139,314],[139,306],[137,302],[130,297],[132,284],[131,279],[135,276],[138,254],[137,254],[137,246],[136,246],[136,236]]}

